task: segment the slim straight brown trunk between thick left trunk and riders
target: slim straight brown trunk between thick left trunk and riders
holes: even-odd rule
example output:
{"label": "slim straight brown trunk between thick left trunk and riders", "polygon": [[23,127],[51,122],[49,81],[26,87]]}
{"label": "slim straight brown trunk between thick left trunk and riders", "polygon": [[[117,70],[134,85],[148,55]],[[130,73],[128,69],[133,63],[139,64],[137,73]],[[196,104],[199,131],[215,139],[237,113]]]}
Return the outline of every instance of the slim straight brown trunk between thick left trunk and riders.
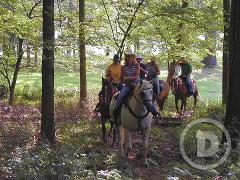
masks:
{"label": "slim straight brown trunk between thick left trunk and riders", "polygon": [[80,101],[87,100],[86,47],[85,47],[85,0],[79,0],[79,56],[80,56]]}

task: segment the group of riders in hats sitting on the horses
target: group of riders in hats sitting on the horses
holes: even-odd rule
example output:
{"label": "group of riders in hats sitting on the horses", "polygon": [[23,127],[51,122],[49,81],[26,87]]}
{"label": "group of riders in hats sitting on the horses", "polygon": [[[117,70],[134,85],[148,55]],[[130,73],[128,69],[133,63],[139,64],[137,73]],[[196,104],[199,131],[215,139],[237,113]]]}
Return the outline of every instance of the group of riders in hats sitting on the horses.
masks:
{"label": "group of riders in hats sitting on the horses", "polygon": [[[156,63],[156,57],[152,56],[150,61],[144,64],[141,55],[134,53],[125,54],[124,65],[121,64],[120,58],[117,54],[113,57],[113,62],[107,67],[105,78],[117,88],[120,92],[113,110],[114,118],[116,118],[124,97],[129,94],[132,87],[140,83],[141,80],[151,81],[153,84],[153,92],[158,95],[163,90],[163,85],[160,83],[158,76],[160,75],[160,68]],[[178,61],[174,61],[181,67],[181,78],[185,82],[188,93],[192,95],[193,87],[190,79],[192,66],[186,61],[184,57]],[[99,92],[99,100],[101,99],[102,91]],[[157,96],[156,96],[157,97]],[[151,108],[154,117],[161,118],[157,111],[155,103]]]}

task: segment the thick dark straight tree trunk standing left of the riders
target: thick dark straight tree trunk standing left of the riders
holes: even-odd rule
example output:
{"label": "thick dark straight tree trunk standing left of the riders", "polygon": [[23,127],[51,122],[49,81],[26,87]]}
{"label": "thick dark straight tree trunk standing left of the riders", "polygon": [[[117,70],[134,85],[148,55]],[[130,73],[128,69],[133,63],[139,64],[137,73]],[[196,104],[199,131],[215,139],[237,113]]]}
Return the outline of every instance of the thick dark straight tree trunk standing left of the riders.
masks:
{"label": "thick dark straight tree trunk standing left of the riders", "polygon": [[43,0],[41,111],[41,137],[54,143],[54,0]]}

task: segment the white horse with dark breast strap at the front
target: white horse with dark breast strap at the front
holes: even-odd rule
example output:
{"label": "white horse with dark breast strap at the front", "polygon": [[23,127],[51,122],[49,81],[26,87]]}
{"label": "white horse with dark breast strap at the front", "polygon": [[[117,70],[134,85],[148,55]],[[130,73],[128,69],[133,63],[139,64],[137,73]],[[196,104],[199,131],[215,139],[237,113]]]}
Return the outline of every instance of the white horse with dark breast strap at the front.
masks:
{"label": "white horse with dark breast strap at the front", "polygon": [[[110,114],[113,114],[116,98],[112,99],[110,104]],[[133,132],[141,131],[143,135],[143,161],[147,165],[148,137],[150,135],[153,106],[152,84],[148,81],[142,81],[135,86],[133,95],[122,105],[121,113],[118,116],[120,121],[120,142],[121,152],[128,153],[132,150],[131,139]],[[124,148],[123,148],[124,145]]]}

